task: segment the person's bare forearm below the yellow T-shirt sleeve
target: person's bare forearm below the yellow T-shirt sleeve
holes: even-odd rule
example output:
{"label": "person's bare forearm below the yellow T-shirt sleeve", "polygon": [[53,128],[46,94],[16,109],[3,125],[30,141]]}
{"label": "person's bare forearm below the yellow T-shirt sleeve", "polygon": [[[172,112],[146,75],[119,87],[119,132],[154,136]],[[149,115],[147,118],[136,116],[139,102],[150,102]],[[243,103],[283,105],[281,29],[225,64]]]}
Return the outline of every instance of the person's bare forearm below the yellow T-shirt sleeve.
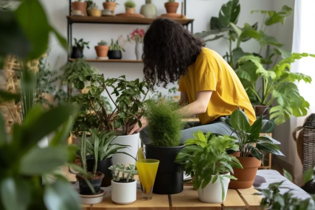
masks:
{"label": "person's bare forearm below the yellow T-shirt sleeve", "polygon": [[[199,91],[197,92],[196,100],[182,107],[179,111],[182,112],[185,117],[191,117],[194,115],[205,113],[207,111],[211,95],[212,95],[212,90]],[[186,97],[187,97],[187,94],[186,94]],[[184,96],[183,96],[183,99],[184,99]],[[181,92],[181,102],[182,102],[182,92]]]}

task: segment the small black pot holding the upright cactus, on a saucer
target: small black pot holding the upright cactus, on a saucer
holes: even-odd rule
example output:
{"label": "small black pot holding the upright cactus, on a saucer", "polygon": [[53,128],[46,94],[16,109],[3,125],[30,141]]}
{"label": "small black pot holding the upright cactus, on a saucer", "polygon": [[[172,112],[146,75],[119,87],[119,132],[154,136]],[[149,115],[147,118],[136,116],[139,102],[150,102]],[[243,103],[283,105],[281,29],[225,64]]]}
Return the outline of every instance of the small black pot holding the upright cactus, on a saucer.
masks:
{"label": "small black pot holding the upright cactus, on a saucer", "polygon": [[[89,187],[88,183],[86,182],[86,180],[84,179],[83,175],[78,174],[76,176],[76,178],[79,181],[80,194],[81,195],[93,195],[93,192],[92,192],[91,188]],[[94,176],[94,177],[87,178],[91,182],[91,184],[95,190],[95,194],[100,193],[100,184],[101,184],[103,178],[104,178],[104,174],[100,173],[100,172],[97,172],[96,176]]]}

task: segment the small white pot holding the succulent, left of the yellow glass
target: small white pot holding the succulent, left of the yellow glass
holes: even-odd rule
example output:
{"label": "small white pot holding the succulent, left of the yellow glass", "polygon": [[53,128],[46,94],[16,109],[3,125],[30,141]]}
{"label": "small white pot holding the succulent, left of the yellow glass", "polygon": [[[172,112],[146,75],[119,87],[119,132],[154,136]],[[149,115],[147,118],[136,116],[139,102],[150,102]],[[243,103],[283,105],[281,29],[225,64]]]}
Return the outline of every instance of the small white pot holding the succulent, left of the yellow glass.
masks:
{"label": "small white pot holding the succulent, left of the yellow glass", "polygon": [[137,200],[137,180],[120,183],[112,180],[112,201],[116,204],[131,204]]}

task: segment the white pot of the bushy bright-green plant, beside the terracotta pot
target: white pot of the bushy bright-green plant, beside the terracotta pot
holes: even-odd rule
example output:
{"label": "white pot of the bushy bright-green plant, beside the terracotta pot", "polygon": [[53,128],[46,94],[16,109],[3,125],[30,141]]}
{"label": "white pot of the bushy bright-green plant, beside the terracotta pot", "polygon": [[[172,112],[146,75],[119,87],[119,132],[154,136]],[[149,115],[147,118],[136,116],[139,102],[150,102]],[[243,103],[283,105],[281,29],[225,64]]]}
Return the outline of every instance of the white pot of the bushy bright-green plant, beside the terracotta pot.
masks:
{"label": "white pot of the bushy bright-green plant, beside the terracotta pot", "polygon": [[[227,175],[230,175],[228,173]],[[214,175],[211,175],[212,178],[214,178]],[[220,178],[216,180],[214,183],[212,181],[209,182],[208,185],[204,189],[201,189],[201,187],[198,189],[198,197],[199,200],[205,203],[222,203],[225,201],[226,194],[227,194],[227,187],[228,183],[230,182],[229,178],[224,177],[223,178],[223,185],[224,185],[224,199],[222,200],[222,187]]]}

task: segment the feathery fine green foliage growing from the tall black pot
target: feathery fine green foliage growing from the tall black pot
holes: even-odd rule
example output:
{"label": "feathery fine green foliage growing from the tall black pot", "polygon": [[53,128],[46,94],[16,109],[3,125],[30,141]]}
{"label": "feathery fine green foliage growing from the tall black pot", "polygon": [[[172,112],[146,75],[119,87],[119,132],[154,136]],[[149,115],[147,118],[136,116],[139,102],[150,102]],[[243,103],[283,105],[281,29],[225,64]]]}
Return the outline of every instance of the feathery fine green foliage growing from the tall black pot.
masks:
{"label": "feathery fine green foliage growing from the tall black pot", "polygon": [[180,145],[183,115],[178,112],[178,103],[148,100],[144,116],[149,122],[149,136],[156,147],[176,147]]}

